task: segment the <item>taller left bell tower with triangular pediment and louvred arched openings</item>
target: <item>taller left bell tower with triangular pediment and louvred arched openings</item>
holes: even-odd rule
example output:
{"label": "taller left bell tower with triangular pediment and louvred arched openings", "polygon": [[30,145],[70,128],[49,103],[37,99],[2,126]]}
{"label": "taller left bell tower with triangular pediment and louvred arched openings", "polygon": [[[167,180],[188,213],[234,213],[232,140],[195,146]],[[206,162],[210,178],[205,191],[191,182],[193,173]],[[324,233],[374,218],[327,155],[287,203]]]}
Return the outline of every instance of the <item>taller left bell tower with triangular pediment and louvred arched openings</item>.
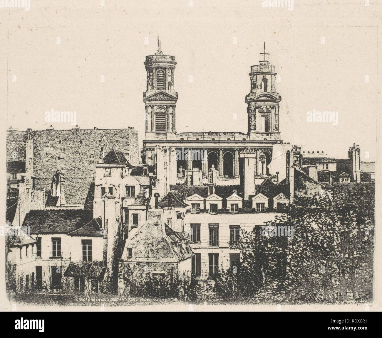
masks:
{"label": "taller left bell tower with triangular pediment and louvred arched openings", "polygon": [[146,56],[145,104],[146,139],[175,137],[175,56],[163,54],[158,37],[158,50]]}

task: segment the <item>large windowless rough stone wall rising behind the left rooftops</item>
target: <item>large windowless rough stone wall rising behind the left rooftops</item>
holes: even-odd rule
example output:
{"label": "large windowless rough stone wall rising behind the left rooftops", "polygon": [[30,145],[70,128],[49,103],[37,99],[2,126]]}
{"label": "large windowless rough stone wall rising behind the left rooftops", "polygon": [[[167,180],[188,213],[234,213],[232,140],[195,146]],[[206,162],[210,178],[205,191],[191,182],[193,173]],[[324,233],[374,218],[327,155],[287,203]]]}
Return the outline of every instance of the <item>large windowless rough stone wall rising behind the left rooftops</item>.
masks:
{"label": "large windowless rough stone wall rising behind the left rooftops", "polygon": [[[36,189],[50,191],[53,174],[65,177],[67,204],[83,204],[94,180],[101,147],[107,153],[120,150],[126,159],[139,163],[138,132],[128,129],[69,129],[31,131],[34,142]],[[7,131],[7,161],[25,161],[27,131]]]}

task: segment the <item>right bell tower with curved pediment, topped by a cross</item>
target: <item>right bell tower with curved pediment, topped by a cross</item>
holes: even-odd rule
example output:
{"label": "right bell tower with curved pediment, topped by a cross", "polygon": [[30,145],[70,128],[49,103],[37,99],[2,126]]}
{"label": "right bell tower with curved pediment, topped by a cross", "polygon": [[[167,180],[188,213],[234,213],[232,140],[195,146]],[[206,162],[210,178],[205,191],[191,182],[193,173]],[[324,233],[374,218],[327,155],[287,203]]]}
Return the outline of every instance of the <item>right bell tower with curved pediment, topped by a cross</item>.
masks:
{"label": "right bell tower with curved pediment, topped by a cross", "polygon": [[251,92],[245,97],[248,113],[248,134],[251,140],[280,140],[278,124],[278,103],[281,96],[276,92],[275,66],[264,53],[256,66],[251,66]]}

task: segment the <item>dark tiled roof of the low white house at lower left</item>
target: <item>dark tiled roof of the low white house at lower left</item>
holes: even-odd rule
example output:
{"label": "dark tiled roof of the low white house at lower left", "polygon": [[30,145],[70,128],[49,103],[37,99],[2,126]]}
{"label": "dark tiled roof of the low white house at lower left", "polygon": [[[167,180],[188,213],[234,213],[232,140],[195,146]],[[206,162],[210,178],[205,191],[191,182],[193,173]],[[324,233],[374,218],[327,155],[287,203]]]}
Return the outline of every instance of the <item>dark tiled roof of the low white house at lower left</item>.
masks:
{"label": "dark tiled roof of the low white house at lower left", "polygon": [[[29,211],[23,222],[24,229],[31,227],[31,233],[66,233],[73,235],[102,236],[100,220],[93,220],[92,211],[84,209],[45,209]],[[88,224],[91,222],[91,224]],[[97,228],[98,227],[98,228]],[[80,229],[82,228],[82,230]]]}

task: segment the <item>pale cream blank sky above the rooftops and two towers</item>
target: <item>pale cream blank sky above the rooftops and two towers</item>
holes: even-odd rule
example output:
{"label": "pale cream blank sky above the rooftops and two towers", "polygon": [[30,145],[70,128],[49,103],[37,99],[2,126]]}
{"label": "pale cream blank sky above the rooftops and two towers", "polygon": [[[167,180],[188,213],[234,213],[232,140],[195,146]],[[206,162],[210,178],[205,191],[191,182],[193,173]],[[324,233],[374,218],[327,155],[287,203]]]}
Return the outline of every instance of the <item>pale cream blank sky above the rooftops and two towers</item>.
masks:
{"label": "pale cream blank sky above the rooftops and two towers", "polygon": [[[377,18],[365,6],[358,8],[364,21],[355,22],[343,2],[305,4],[288,11],[259,1],[32,1],[30,11],[1,9],[6,126],[71,129],[46,122],[45,112],[76,111],[82,129],[134,127],[141,146],[143,62],[159,35],[177,62],[176,131],[247,132],[248,73],[265,42],[280,76],[282,140],[337,158],[356,143],[361,160],[375,161]],[[314,109],[338,112],[338,124],[307,121]]]}

